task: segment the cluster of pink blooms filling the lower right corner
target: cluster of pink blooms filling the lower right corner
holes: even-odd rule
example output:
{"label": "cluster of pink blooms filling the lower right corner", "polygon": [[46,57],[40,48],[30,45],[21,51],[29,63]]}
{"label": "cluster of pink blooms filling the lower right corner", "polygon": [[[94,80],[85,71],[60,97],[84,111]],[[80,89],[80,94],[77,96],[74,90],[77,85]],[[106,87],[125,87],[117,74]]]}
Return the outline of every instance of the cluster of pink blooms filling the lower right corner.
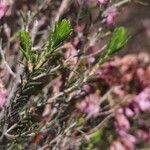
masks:
{"label": "cluster of pink blooms filling the lower right corner", "polygon": [[[113,150],[115,147],[120,145],[124,149],[134,150],[135,145],[139,141],[144,141],[145,143],[150,142],[150,132],[148,127],[142,123],[142,126],[145,126],[145,129],[140,129],[141,125],[141,115],[143,112],[147,113],[150,110],[150,88],[144,89],[139,95],[135,96],[133,101],[126,107],[118,109],[115,113],[115,127],[119,135],[117,141],[114,141],[110,146],[110,149]],[[134,117],[137,116],[136,125],[137,130],[134,132],[134,135],[130,133],[132,128],[131,122]],[[142,121],[143,122],[143,121]]]}

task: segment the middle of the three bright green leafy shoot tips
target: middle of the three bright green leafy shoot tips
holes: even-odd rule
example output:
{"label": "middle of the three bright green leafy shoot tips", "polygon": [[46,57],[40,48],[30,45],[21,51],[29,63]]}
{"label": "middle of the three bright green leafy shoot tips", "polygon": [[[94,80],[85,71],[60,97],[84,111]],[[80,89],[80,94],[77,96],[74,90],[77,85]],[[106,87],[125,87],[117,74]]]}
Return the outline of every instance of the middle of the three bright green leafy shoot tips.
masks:
{"label": "middle of the three bright green leafy shoot tips", "polygon": [[69,37],[71,33],[72,27],[68,20],[64,19],[61,22],[58,22],[55,25],[54,30],[50,32],[47,51],[49,53],[53,52]]}

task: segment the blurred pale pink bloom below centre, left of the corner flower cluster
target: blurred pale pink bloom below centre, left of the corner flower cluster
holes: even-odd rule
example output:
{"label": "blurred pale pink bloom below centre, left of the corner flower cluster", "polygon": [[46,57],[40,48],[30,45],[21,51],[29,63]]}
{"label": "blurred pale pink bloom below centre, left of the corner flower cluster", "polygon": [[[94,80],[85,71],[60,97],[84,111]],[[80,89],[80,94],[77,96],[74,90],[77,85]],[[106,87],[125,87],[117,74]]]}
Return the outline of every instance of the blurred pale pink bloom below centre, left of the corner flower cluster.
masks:
{"label": "blurred pale pink bloom below centre, left of the corner flower cluster", "polygon": [[86,96],[85,100],[83,100],[80,104],[78,104],[78,109],[87,114],[88,118],[97,117],[100,111],[99,106],[99,95],[97,93],[90,94]]}

